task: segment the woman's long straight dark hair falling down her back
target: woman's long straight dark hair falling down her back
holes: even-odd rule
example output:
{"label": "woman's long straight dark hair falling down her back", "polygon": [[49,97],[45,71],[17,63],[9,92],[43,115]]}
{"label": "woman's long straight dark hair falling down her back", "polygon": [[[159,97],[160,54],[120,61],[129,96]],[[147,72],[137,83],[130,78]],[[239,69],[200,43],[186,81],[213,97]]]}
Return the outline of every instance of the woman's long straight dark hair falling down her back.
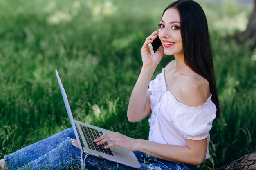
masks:
{"label": "woman's long straight dark hair falling down her back", "polygon": [[185,63],[195,73],[208,80],[212,94],[211,100],[217,108],[216,117],[219,117],[220,106],[207,19],[204,11],[193,0],[177,0],[168,5],[164,12],[169,8],[175,8],[180,13],[180,31]]}

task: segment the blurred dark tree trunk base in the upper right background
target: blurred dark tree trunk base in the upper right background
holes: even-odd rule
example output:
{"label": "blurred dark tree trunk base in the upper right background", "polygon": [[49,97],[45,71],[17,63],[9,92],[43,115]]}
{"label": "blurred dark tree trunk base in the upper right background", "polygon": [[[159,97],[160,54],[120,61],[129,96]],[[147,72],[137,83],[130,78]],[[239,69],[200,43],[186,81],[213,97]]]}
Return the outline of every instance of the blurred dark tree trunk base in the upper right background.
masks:
{"label": "blurred dark tree trunk base in the upper right background", "polygon": [[256,0],[246,30],[235,35],[235,38],[238,43],[249,45],[252,49],[256,48]]}

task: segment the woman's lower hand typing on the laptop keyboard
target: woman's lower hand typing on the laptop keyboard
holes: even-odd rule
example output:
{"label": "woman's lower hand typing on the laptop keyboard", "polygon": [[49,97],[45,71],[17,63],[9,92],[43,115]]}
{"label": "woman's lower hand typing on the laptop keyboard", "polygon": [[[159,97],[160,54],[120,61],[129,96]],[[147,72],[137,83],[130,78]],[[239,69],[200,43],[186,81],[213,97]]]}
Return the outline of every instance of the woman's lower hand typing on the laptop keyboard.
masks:
{"label": "woman's lower hand typing on the laptop keyboard", "polygon": [[106,145],[104,148],[110,148],[112,146],[119,146],[126,150],[135,151],[137,150],[139,144],[136,142],[137,139],[133,139],[122,135],[119,132],[106,133],[101,137],[94,140],[97,145],[101,145],[105,142],[111,141],[110,144]]}

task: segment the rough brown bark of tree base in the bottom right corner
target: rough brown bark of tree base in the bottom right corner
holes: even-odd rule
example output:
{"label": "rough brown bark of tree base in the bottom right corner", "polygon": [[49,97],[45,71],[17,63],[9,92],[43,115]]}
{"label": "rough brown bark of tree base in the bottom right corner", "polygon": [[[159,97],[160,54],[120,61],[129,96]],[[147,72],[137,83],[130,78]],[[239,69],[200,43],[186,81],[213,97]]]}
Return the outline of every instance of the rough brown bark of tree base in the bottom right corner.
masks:
{"label": "rough brown bark of tree base in the bottom right corner", "polygon": [[256,170],[256,147],[240,159],[215,170]]}

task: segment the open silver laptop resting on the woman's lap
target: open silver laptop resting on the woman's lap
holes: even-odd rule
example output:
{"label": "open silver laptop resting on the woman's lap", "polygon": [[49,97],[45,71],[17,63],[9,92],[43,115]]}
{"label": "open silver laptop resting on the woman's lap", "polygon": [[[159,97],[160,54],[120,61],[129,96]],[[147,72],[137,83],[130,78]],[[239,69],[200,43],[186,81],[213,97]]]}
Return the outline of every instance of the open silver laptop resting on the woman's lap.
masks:
{"label": "open silver laptop resting on the woman's lap", "polygon": [[63,85],[61,83],[60,77],[58,76],[57,70],[55,70],[55,72],[58,79],[58,84],[61,88],[61,94],[67,109],[67,114],[70,119],[72,128],[76,135],[76,139],[81,151],[90,155],[94,155],[96,157],[101,157],[103,159],[107,159],[113,162],[131,166],[133,168],[141,168],[139,161],[133,152],[126,150],[124,148],[121,148],[119,146],[112,146],[111,148],[104,149],[103,147],[106,146],[107,143],[101,144],[100,146],[98,146],[93,142],[94,139],[97,139],[101,135],[112,132],[112,131],[99,128],[97,126],[92,126],[90,124],[85,124],[81,121],[77,121],[73,119],[73,115],[70,109],[70,104],[68,103],[68,100],[67,100],[65,89],[63,88]]}

